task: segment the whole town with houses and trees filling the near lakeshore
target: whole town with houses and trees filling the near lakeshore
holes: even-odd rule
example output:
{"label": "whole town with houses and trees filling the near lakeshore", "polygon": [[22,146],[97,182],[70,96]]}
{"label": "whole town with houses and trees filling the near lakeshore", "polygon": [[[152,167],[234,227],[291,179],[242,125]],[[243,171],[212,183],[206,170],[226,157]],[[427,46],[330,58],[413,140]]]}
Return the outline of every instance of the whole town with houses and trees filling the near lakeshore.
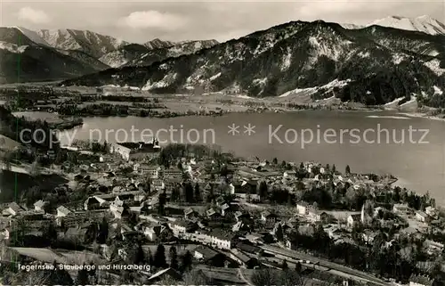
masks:
{"label": "whole town with houses and trees filling the near lakeshore", "polygon": [[444,215],[389,175],[156,138],[6,140],[3,284],[441,283]]}

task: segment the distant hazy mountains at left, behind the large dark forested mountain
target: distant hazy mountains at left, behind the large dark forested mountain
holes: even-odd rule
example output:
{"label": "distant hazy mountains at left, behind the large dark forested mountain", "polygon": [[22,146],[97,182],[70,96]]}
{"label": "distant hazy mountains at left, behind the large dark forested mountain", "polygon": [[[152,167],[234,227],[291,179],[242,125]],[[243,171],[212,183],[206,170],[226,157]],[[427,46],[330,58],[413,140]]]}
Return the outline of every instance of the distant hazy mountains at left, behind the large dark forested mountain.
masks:
{"label": "distant hazy mountains at left, behind the large dark forested mountain", "polygon": [[76,78],[110,67],[196,53],[216,44],[214,40],[154,39],[139,45],[88,30],[0,27],[0,83]]}

